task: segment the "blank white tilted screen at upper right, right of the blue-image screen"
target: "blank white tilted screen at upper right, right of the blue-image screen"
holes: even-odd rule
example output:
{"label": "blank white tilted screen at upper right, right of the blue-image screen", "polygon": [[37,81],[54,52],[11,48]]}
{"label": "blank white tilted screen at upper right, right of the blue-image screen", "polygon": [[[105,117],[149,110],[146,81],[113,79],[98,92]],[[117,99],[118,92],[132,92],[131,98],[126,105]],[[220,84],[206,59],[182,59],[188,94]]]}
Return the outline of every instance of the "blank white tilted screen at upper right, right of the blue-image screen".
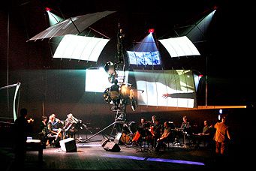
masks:
{"label": "blank white tilted screen at upper right, right of the blue-image screen", "polygon": [[159,40],[171,57],[200,55],[200,52],[186,36]]}

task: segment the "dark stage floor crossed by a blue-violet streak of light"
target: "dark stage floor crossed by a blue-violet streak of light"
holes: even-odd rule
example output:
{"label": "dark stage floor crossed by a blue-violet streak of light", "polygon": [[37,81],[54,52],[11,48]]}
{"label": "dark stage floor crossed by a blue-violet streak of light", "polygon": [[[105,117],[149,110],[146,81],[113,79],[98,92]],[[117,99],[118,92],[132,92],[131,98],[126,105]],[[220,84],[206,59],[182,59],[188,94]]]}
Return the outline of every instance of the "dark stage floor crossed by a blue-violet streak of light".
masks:
{"label": "dark stage floor crossed by a blue-violet streak of light", "polygon": [[[90,135],[87,135],[89,137]],[[86,135],[81,136],[82,140]],[[98,134],[86,142],[76,141],[77,151],[66,152],[62,148],[47,146],[44,149],[44,163],[38,163],[38,152],[26,154],[25,169],[32,170],[83,170],[83,169],[212,169],[215,166],[214,151],[209,148],[176,146],[165,151],[141,151],[139,146],[119,145],[120,151],[106,151],[101,142],[104,136]],[[13,170],[14,154],[10,148],[1,148],[1,170]]]}

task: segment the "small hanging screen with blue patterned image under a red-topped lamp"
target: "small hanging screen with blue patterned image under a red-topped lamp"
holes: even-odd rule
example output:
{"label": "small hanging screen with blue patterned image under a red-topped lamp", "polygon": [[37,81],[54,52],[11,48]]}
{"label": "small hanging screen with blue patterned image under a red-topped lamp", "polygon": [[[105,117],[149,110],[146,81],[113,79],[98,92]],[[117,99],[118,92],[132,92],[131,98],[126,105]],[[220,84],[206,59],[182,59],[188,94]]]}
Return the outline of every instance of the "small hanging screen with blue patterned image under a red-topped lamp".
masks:
{"label": "small hanging screen with blue patterned image under a red-topped lamp", "polygon": [[158,51],[132,52],[127,51],[130,65],[161,65]]}

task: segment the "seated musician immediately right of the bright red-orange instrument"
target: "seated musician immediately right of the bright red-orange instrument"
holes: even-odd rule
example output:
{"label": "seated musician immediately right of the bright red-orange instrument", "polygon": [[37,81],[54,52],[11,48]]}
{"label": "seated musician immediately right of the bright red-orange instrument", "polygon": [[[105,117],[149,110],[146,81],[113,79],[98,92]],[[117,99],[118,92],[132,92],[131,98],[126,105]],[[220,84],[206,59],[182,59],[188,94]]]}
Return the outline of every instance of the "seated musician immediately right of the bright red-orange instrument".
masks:
{"label": "seated musician immediately right of the bright red-orange instrument", "polygon": [[161,137],[161,134],[164,132],[164,127],[158,120],[158,118],[155,118],[154,124],[150,127],[150,132],[152,133],[152,148],[156,147],[157,139]]}

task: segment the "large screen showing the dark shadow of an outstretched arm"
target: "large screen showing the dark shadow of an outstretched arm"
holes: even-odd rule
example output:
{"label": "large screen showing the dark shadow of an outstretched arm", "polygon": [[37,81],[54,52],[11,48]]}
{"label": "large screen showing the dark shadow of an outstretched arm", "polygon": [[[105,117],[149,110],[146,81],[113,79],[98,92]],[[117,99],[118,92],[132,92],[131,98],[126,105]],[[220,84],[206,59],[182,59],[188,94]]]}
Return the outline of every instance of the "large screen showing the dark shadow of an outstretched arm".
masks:
{"label": "large screen showing the dark shadow of an outstretched arm", "polygon": [[188,70],[134,71],[139,105],[193,108],[196,102],[194,77]]}

